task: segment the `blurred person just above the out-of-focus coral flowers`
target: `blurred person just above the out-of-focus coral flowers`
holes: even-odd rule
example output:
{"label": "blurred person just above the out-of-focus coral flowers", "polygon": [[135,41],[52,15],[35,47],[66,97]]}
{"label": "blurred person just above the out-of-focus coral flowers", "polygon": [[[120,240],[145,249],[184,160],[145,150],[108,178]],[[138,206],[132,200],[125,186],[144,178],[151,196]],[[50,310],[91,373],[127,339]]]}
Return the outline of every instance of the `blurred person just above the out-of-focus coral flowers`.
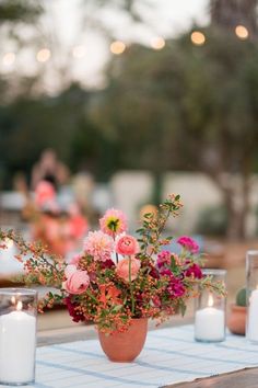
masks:
{"label": "blurred person just above the out-of-focus coral flowers", "polygon": [[40,181],[50,182],[57,190],[69,179],[69,169],[58,160],[54,149],[47,148],[32,171],[32,189],[35,190]]}

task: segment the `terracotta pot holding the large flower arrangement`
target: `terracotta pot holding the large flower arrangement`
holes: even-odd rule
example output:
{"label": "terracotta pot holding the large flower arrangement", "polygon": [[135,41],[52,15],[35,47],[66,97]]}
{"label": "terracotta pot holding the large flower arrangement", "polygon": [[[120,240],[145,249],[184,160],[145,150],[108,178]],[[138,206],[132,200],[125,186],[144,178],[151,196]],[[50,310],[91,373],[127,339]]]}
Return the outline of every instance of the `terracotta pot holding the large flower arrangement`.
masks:
{"label": "terracotta pot holding the large flower arrangement", "polygon": [[106,335],[98,331],[98,338],[104,353],[110,361],[117,363],[132,362],[142,351],[146,339],[148,319],[132,319],[128,331]]}

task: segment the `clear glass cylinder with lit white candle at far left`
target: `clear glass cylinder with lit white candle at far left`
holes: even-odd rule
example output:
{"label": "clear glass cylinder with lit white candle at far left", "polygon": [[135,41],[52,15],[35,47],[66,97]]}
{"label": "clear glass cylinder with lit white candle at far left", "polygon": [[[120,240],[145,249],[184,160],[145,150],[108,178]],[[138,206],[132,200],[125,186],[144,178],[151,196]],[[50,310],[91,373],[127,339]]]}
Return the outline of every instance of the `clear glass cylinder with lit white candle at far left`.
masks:
{"label": "clear glass cylinder with lit white candle at far left", "polygon": [[37,293],[0,288],[0,385],[35,381]]}

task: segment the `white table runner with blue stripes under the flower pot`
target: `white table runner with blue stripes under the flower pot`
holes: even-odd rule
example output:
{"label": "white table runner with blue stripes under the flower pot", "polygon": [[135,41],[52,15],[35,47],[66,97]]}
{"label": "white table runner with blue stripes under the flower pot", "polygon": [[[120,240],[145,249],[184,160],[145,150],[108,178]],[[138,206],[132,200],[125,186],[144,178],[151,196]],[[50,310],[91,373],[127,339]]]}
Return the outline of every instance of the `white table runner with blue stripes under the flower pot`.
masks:
{"label": "white table runner with blue stripes under the flower pot", "polygon": [[33,387],[154,388],[254,366],[258,346],[245,338],[228,334],[225,342],[197,343],[192,326],[183,326],[150,331],[130,364],[109,362],[96,340],[38,347]]}

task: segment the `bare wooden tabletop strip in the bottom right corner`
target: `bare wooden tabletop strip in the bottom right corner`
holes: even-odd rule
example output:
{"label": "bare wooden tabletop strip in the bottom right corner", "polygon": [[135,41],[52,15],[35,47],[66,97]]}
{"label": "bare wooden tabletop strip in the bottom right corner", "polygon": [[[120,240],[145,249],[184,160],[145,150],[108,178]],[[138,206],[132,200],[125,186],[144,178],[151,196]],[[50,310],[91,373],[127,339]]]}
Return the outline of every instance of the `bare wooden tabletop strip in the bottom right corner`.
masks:
{"label": "bare wooden tabletop strip in the bottom right corner", "polygon": [[192,383],[180,383],[164,388],[257,388],[258,368],[245,368],[210,378],[198,378]]}

